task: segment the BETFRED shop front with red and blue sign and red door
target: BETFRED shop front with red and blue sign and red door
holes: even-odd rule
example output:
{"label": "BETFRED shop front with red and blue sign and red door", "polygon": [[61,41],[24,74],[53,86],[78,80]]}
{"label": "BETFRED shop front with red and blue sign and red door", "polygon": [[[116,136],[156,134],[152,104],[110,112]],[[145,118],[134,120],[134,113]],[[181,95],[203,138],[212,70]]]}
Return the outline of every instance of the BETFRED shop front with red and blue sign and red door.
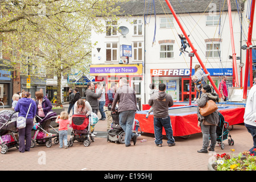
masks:
{"label": "BETFRED shop front with red and blue sign and red door", "polygon": [[[225,69],[207,69],[212,77],[214,83],[218,88],[218,84],[221,81],[223,75],[228,76],[228,83],[232,86],[232,68]],[[189,86],[190,71],[189,69],[150,69],[151,82],[155,83],[156,86],[160,83],[166,84],[166,92],[171,94],[174,101],[188,102],[189,101],[189,90],[191,89],[192,101],[196,97],[195,85],[192,82],[192,88]],[[192,75],[195,74],[195,69],[192,69]],[[231,80],[230,80],[231,78]],[[209,80],[205,77],[205,82],[209,84]]]}

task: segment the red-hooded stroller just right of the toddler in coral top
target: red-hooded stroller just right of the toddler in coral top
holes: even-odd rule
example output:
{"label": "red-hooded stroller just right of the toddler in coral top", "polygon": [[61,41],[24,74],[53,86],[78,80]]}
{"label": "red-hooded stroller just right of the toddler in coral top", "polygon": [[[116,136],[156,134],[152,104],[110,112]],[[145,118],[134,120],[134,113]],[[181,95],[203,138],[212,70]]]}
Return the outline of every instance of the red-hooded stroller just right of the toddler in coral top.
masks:
{"label": "red-hooded stroller just right of the toddler in coral top", "polygon": [[[89,116],[90,117],[90,116]],[[73,146],[75,140],[83,142],[85,147],[90,145],[90,140],[94,142],[94,137],[91,133],[91,125],[89,117],[85,114],[73,114],[72,115],[72,131],[69,139],[69,146]]]}

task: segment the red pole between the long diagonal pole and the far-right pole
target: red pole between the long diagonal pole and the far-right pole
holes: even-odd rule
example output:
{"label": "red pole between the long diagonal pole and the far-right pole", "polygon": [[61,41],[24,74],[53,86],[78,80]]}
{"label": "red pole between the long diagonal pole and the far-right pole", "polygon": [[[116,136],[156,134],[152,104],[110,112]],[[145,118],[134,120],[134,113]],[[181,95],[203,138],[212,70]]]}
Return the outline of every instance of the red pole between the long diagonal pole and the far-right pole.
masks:
{"label": "red pole between the long diagonal pole and the far-right pole", "polygon": [[233,32],[233,24],[232,24],[232,14],[231,14],[231,5],[230,0],[228,0],[228,10],[229,10],[229,27],[230,27],[230,35],[231,35],[231,44],[232,44],[232,57],[233,57],[233,76],[234,76],[234,85],[238,86],[238,73],[237,73],[237,53],[234,47],[234,32]]}

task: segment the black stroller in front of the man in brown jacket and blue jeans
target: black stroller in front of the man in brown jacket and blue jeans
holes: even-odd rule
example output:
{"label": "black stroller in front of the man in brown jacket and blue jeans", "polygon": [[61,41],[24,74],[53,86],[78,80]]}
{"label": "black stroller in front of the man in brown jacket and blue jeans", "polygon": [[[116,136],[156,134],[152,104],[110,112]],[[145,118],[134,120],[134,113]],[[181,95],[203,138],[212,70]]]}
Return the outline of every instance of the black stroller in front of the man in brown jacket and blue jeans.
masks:
{"label": "black stroller in front of the man in brown jacket and blue jeans", "polygon": [[[108,105],[108,110],[111,110],[112,105]],[[118,106],[115,107],[115,110],[118,110]],[[138,110],[138,108],[137,108]],[[125,131],[123,131],[122,127],[119,125],[119,113],[115,112],[112,113],[113,123],[112,123],[112,129],[108,131],[107,134],[107,141],[109,142],[115,142],[115,143],[125,143]],[[141,127],[139,126],[139,121],[137,119],[134,119],[134,123],[132,126],[133,133],[136,133],[137,135],[141,135],[143,132],[141,131]],[[138,129],[140,132],[138,132]]]}

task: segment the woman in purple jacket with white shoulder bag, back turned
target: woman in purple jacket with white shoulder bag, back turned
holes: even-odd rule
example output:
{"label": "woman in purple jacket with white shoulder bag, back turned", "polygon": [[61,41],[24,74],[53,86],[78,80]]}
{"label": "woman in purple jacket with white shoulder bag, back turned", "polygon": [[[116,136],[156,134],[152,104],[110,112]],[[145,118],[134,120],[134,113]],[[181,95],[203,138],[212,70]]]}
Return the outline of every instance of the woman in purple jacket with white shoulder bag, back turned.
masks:
{"label": "woman in purple jacket with white shoulder bag, back turned", "polygon": [[[33,120],[36,114],[36,104],[30,97],[29,92],[24,93],[24,97],[20,98],[17,105],[15,106],[14,110],[19,112],[18,116],[26,117],[28,108],[30,107],[30,111],[28,112],[27,119],[26,119],[26,127],[23,129],[19,129],[19,151],[25,152],[30,151],[31,145],[31,130],[33,127]],[[26,139],[26,145],[25,145]]]}

